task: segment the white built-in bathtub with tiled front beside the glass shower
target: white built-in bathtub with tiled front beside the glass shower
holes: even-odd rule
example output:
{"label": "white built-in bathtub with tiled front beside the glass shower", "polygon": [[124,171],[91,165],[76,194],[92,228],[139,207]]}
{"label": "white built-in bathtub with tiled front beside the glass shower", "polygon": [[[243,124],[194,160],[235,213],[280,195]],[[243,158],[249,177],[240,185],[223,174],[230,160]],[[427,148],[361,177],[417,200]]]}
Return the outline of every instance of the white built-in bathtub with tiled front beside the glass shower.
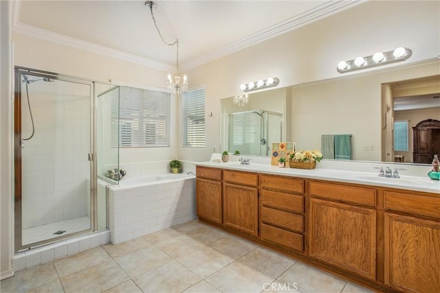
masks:
{"label": "white built-in bathtub with tiled front beside the glass shower", "polygon": [[195,176],[192,174],[126,177],[119,185],[109,188],[109,228],[113,244],[195,218]]}

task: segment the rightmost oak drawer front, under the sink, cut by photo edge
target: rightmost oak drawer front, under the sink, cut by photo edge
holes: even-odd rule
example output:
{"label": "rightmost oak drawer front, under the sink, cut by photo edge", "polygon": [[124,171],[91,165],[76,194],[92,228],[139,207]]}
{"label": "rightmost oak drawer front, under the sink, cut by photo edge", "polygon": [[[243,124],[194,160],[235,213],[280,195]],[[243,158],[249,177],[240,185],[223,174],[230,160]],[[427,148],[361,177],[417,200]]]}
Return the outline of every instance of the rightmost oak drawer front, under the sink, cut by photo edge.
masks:
{"label": "rightmost oak drawer front, under the sink, cut by photo edge", "polygon": [[440,198],[400,192],[384,192],[385,209],[440,218]]}

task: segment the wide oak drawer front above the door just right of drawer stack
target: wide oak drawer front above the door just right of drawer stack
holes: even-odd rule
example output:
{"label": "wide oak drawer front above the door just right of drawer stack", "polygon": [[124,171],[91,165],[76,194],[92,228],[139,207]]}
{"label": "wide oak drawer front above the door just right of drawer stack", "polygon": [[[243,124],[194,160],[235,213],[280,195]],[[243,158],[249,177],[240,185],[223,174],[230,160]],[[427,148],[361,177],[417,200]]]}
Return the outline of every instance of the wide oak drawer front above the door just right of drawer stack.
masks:
{"label": "wide oak drawer front above the door just right of drawer stack", "polygon": [[376,205],[376,189],[310,181],[309,193],[311,196],[341,200],[370,207]]}

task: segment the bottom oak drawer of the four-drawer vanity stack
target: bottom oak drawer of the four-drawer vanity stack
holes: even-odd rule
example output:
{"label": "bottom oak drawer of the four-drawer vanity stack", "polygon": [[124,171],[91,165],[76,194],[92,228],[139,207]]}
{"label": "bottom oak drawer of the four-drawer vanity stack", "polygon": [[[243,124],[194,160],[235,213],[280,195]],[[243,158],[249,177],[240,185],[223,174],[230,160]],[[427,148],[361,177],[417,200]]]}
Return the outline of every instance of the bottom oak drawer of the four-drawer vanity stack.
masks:
{"label": "bottom oak drawer of the four-drawer vanity stack", "polygon": [[300,252],[304,251],[304,239],[301,234],[285,231],[267,224],[261,224],[260,237],[267,242],[299,250]]}

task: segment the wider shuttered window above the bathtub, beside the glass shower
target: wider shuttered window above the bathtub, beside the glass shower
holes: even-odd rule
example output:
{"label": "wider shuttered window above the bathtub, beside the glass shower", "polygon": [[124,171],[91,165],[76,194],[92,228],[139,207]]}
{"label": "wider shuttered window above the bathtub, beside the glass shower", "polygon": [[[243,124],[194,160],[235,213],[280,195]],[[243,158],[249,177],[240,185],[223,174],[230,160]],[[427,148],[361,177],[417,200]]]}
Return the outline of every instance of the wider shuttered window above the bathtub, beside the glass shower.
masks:
{"label": "wider shuttered window above the bathtub, beside the glass shower", "polygon": [[119,128],[119,136],[112,143],[118,141],[120,148],[169,147],[170,93],[121,86],[115,120],[112,127]]}

